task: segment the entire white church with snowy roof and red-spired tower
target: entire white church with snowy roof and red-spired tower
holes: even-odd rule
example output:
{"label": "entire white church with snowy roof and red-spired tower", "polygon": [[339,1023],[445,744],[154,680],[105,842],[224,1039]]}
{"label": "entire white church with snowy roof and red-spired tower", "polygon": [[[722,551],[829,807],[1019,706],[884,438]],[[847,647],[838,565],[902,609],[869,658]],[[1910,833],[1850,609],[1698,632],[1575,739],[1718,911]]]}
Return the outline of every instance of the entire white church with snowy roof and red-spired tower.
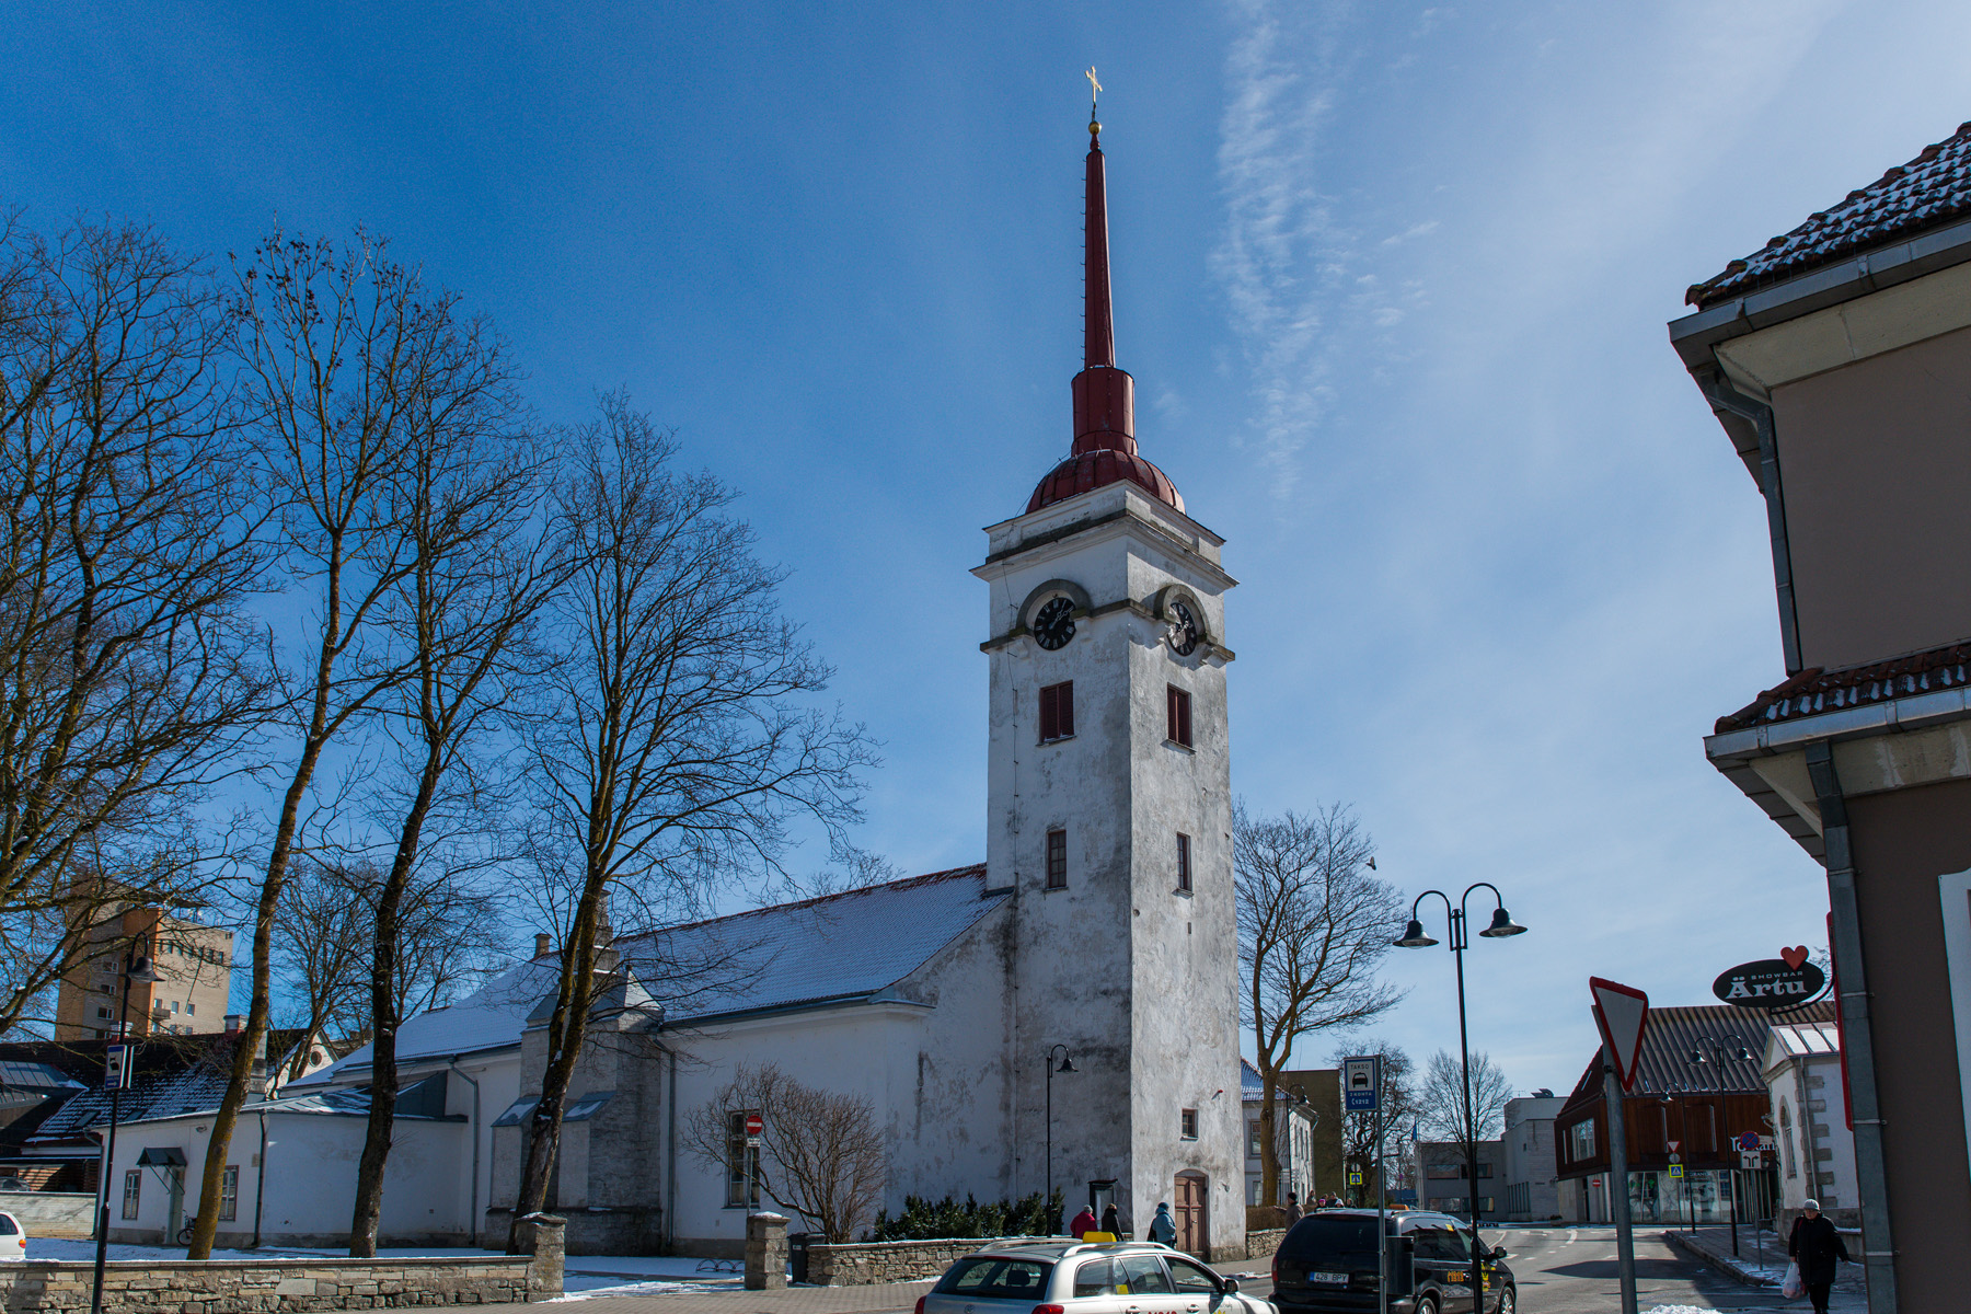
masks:
{"label": "entire white church with snowy roof and red-spired tower", "polygon": [[[893,1212],[907,1194],[999,1200],[1053,1180],[1070,1212],[1114,1200],[1135,1231],[1169,1202],[1187,1249],[1244,1257],[1234,581],[1222,540],[1135,451],[1102,167],[1092,142],[1074,447],[1023,514],[987,530],[974,571],[987,585],[986,863],[615,940],[548,1198],[576,1253],[741,1253],[743,1135],[731,1162],[706,1164],[680,1121],[739,1064],[773,1062],[869,1099]],[[739,971],[678,979],[680,963],[715,959]],[[384,1243],[505,1237],[554,971],[536,957],[398,1032],[404,1082],[436,1085],[392,1152]],[[1053,1076],[1049,1119],[1062,1052],[1074,1072]],[[223,1243],[254,1235],[248,1217],[262,1241],[347,1231],[367,1076],[363,1048],[242,1119]],[[197,1164],[201,1125],[128,1127],[114,1172],[150,1149]],[[132,1223],[168,1227],[170,1202],[154,1217],[142,1192],[140,1178]]]}

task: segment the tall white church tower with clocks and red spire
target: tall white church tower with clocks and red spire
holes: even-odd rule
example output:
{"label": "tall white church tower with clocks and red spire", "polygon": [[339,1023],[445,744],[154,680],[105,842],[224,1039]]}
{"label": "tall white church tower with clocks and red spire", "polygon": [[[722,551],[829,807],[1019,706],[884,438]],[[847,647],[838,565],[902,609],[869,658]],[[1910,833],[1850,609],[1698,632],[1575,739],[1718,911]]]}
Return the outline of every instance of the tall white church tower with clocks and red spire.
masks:
{"label": "tall white church tower with clocks and red spire", "polygon": [[1139,1237],[1169,1202],[1179,1245],[1244,1257],[1236,581],[1224,540],[1137,455],[1100,130],[1090,114],[1074,447],[1025,514],[986,530],[974,569],[991,589],[987,885],[1015,890],[1009,1152],[1015,1194],[1053,1178],[1068,1214],[1114,1200]]}

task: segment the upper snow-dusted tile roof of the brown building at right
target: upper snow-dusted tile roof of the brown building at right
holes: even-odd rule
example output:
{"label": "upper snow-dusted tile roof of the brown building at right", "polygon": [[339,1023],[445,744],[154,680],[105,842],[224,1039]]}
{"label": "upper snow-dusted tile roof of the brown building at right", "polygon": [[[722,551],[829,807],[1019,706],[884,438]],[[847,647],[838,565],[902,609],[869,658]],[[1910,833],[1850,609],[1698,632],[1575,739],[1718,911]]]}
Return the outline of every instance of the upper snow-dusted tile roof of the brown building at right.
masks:
{"label": "upper snow-dusted tile roof of the brown building at right", "polygon": [[1872,246],[1914,236],[1971,215],[1971,122],[1926,146],[1916,160],[1898,165],[1841,205],[1811,215],[1786,236],[1776,236],[1744,260],[1733,260],[1721,274],[1691,284],[1685,303],[1717,305],[1729,297],[1805,274]]}

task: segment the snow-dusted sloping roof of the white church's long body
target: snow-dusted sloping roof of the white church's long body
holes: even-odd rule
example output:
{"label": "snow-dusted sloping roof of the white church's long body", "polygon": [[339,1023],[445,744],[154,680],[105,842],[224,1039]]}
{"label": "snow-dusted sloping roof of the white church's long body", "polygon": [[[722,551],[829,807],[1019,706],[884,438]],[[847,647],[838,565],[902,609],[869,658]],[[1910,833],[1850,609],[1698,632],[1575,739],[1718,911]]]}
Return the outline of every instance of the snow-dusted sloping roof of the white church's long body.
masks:
{"label": "snow-dusted sloping roof of the white church's long body", "polygon": [[[986,892],[986,865],[980,863],[621,936],[615,948],[664,1005],[666,1022],[706,1022],[735,1013],[877,995],[922,967],[1005,898],[1003,890]],[[518,1044],[528,1013],[554,991],[556,973],[554,957],[520,963],[479,993],[410,1018],[396,1034],[398,1060]],[[365,1044],[288,1089],[335,1082],[349,1068],[367,1068],[369,1060]]]}

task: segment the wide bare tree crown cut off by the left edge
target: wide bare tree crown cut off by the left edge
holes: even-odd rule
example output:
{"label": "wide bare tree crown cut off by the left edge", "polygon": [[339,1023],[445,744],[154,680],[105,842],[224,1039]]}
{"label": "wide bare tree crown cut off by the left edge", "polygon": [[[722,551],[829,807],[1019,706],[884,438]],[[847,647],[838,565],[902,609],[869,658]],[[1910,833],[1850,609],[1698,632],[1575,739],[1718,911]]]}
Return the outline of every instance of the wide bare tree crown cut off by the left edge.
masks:
{"label": "wide bare tree crown cut off by the left edge", "polygon": [[266,695],[221,311],[152,229],[0,217],[0,1032],[124,908],[209,902]]}

